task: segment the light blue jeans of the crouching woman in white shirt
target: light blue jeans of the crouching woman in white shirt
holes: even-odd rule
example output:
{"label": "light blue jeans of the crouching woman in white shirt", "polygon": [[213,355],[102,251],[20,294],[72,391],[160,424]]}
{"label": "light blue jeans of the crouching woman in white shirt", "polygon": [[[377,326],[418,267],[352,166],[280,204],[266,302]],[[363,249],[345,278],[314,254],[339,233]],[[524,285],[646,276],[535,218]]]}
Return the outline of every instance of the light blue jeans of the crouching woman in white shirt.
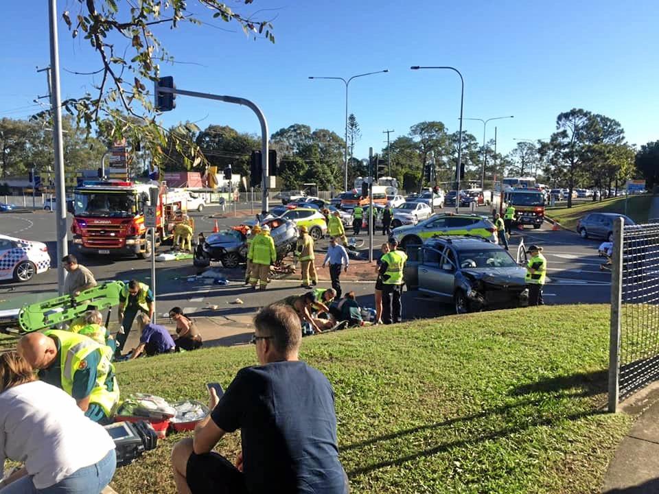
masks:
{"label": "light blue jeans of the crouching woman in white shirt", "polygon": [[100,462],[83,467],[45,489],[36,489],[32,475],[26,475],[1,489],[0,494],[99,494],[112,480],[116,468],[117,454],[113,449]]}

